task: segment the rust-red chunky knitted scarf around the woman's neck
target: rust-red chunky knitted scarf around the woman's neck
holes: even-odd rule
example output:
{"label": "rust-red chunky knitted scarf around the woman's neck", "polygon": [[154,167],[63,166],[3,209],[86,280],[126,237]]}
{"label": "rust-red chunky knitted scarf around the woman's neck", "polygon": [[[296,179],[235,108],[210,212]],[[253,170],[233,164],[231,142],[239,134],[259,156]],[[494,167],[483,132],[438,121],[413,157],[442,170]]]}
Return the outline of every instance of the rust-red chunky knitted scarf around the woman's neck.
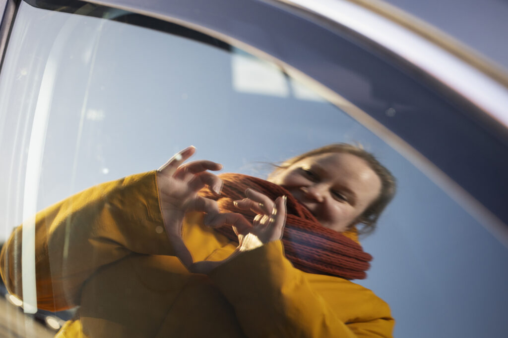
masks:
{"label": "rust-red chunky knitted scarf around the woman's neck", "polygon": [[[207,188],[200,195],[217,201],[220,211],[238,212],[250,222],[255,213],[243,211],[234,206],[233,201],[245,198],[248,187],[267,195],[272,200],[278,196],[288,197],[288,216],[282,243],[285,256],[302,271],[332,275],[345,279],[364,279],[372,256],[363,251],[360,244],[341,233],[321,226],[310,211],[301,205],[280,185],[266,180],[241,174],[221,174],[224,182],[221,195]],[[232,227],[221,227],[217,231],[232,241],[238,237]]]}

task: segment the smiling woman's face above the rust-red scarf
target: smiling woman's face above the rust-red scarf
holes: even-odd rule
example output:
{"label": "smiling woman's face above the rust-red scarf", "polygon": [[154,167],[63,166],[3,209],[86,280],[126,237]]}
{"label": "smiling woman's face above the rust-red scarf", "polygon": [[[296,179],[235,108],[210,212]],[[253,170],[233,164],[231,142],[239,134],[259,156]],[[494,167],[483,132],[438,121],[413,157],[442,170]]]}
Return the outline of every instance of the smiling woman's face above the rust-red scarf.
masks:
{"label": "smiling woman's face above the rust-red scarf", "polygon": [[348,153],[307,157],[269,180],[289,190],[322,226],[338,232],[357,223],[381,191],[376,173],[364,160]]}

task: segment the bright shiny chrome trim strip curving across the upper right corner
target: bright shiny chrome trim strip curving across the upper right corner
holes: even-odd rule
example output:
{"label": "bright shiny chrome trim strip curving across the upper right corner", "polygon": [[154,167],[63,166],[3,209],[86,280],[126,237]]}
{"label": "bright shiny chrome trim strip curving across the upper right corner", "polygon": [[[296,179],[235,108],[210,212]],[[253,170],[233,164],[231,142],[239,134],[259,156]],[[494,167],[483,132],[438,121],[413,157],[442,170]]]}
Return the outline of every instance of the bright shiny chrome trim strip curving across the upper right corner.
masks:
{"label": "bright shiny chrome trim strip curving across the upper right corner", "polygon": [[362,34],[452,88],[508,127],[508,88],[420,34],[347,0],[277,1],[319,14]]}

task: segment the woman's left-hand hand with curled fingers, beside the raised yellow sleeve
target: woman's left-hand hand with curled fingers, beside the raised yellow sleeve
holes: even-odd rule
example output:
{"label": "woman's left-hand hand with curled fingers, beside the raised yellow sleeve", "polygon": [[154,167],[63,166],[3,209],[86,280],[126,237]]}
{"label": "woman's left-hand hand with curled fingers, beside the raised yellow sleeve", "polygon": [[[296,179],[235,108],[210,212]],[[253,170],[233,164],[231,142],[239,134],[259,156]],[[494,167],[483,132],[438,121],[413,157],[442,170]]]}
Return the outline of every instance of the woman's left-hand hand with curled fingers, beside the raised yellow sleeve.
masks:
{"label": "woman's left-hand hand with curled fingers, beside the raised yellow sleeve", "polygon": [[175,254],[183,265],[192,271],[193,258],[182,239],[182,224],[185,213],[202,211],[204,222],[210,227],[223,224],[236,224],[239,228],[250,227],[250,223],[240,214],[219,213],[217,203],[201,197],[198,192],[208,185],[210,190],[220,194],[223,182],[207,170],[220,170],[222,166],[211,161],[182,163],[196,152],[189,146],[173,156],[157,170],[157,189],[161,205],[164,227]]}

